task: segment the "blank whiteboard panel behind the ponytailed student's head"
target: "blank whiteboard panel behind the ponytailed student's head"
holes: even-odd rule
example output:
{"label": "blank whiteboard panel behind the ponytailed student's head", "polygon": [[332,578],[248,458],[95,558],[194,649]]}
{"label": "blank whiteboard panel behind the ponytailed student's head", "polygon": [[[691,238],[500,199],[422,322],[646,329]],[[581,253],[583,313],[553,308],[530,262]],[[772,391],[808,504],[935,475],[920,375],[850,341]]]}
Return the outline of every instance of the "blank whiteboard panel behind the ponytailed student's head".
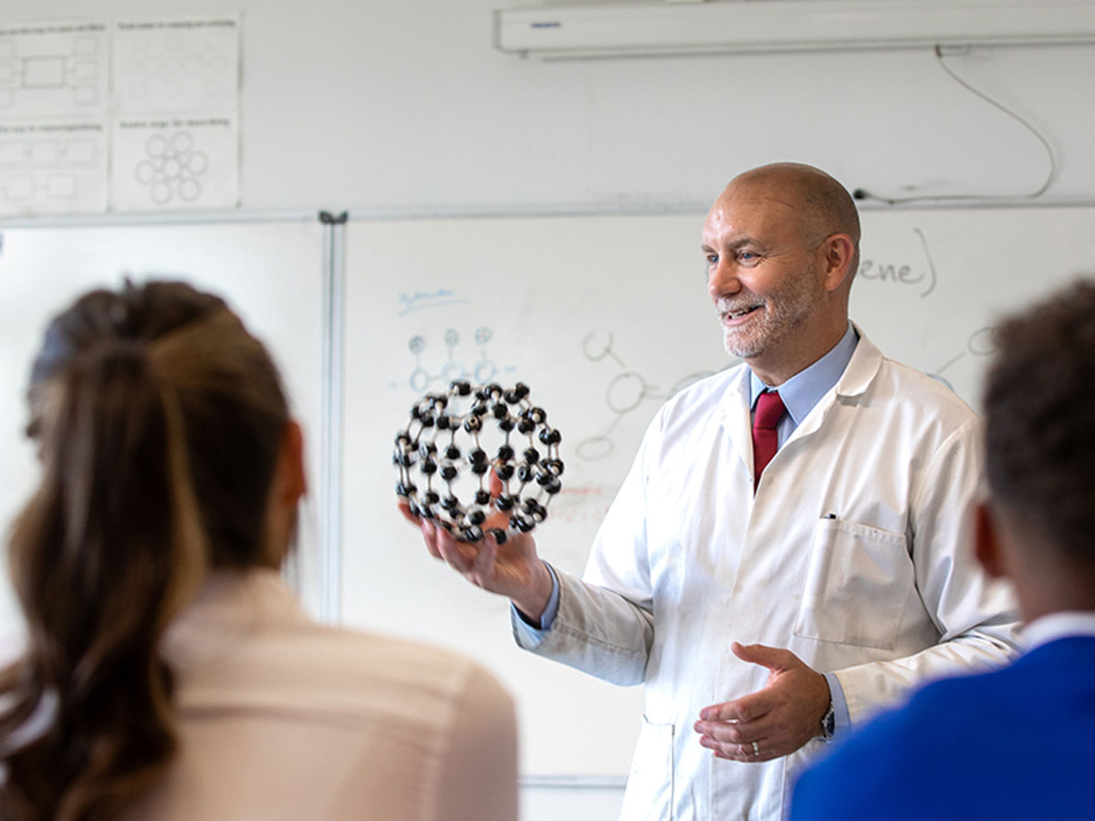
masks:
{"label": "blank whiteboard panel behind the ponytailed student's head", "polygon": [[[293,412],[311,447],[309,473],[319,478],[323,407],[324,255],[316,220],[171,226],[19,228],[0,233],[0,524],[37,481],[23,436],[31,360],[48,321],[94,287],[128,276],[183,279],[218,293],[262,338],[281,369]],[[313,612],[319,602],[319,482],[300,527],[299,579]],[[5,574],[4,574],[5,576]],[[11,591],[0,591],[0,631],[19,627]]]}

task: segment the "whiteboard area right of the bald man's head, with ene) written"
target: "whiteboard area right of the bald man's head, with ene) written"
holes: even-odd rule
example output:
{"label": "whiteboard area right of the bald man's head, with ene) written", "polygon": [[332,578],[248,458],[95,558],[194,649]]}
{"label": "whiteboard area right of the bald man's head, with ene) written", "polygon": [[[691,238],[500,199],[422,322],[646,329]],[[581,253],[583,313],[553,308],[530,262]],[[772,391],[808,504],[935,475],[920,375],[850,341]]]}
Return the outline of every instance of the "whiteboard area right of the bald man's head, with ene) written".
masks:
{"label": "whiteboard area right of the bald man's head, with ene) written", "polygon": [[867,211],[852,317],[979,410],[993,324],[1095,276],[1093,219],[1079,207]]}

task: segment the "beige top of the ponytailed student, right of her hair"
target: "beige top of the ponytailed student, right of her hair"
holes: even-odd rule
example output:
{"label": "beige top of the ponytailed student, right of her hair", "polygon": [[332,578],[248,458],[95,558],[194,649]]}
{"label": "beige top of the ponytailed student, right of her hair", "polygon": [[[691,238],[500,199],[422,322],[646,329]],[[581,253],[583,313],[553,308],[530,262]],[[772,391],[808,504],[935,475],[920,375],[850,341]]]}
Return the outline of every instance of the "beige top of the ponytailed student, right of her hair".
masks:
{"label": "beige top of the ponytailed student, right of her hair", "polygon": [[142,821],[514,821],[514,703],[475,662],[216,574],[169,631],[181,750]]}

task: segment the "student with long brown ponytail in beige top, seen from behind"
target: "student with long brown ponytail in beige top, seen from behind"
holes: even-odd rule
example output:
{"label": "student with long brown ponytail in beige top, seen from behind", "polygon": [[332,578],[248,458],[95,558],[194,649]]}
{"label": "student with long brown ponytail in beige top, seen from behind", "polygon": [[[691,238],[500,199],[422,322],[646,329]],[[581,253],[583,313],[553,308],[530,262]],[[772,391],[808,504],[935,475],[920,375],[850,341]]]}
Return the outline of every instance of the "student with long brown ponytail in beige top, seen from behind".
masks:
{"label": "student with long brown ponytail in beige top, seen from behind", "polygon": [[78,300],[34,362],[42,479],[10,536],[0,818],[512,821],[509,696],[320,626],[281,581],[304,493],[266,349],[178,282]]}

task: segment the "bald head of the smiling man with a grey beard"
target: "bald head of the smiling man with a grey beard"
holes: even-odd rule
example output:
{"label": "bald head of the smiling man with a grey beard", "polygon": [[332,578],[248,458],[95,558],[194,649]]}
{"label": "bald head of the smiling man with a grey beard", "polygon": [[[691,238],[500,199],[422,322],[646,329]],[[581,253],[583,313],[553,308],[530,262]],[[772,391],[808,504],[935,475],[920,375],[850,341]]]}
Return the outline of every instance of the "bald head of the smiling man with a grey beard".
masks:
{"label": "bald head of the smiling man with a grey beard", "polygon": [[855,205],[825,172],[777,163],[730,181],[703,228],[727,350],[772,385],[823,356],[848,326],[858,246]]}

